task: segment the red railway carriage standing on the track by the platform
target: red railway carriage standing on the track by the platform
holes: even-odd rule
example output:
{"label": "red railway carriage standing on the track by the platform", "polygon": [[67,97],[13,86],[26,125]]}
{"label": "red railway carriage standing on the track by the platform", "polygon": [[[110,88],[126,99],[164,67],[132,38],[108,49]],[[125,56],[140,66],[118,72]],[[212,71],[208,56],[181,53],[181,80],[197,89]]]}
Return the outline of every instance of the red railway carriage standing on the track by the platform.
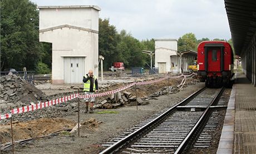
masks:
{"label": "red railway carriage standing on the track by the platform", "polygon": [[203,41],[198,45],[198,77],[206,87],[232,87],[233,51],[225,41]]}

